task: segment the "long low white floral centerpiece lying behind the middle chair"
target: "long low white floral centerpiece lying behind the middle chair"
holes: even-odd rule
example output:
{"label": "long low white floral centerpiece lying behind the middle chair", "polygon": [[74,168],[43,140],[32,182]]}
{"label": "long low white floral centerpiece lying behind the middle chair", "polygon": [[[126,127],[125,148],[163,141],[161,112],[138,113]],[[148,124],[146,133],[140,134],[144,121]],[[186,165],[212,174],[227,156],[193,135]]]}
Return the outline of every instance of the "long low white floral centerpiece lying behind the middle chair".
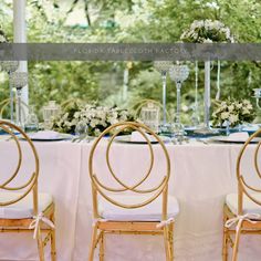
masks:
{"label": "long low white floral centerpiece lying behind the middle chair", "polygon": [[127,109],[119,107],[98,106],[97,104],[86,104],[80,106],[74,103],[65,108],[58,118],[53,121],[53,129],[62,133],[75,133],[79,123],[87,126],[90,136],[98,136],[108,126],[125,121],[133,121],[133,116]]}

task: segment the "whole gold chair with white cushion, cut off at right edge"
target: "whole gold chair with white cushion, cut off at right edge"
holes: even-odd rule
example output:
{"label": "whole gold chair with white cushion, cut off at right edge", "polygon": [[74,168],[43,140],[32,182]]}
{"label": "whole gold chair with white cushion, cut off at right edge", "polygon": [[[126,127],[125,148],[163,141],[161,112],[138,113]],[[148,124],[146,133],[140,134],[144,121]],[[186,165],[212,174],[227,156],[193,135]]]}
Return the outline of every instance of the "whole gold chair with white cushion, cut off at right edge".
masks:
{"label": "whole gold chair with white cushion, cut off at right edge", "polygon": [[[242,146],[237,160],[238,192],[226,197],[223,208],[223,248],[222,260],[228,260],[228,244],[232,247],[232,261],[238,259],[239,239],[241,234],[261,234],[261,189],[249,184],[244,177],[243,163],[250,143],[260,136],[261,129],[255,132]],[[261,178],[258,143],[254,150],[254,169]],[[248,166],[249,167],[249,166]],[[248,170],[248,173],[251,170]],[[234,239],[232,239],[234,236]]]}

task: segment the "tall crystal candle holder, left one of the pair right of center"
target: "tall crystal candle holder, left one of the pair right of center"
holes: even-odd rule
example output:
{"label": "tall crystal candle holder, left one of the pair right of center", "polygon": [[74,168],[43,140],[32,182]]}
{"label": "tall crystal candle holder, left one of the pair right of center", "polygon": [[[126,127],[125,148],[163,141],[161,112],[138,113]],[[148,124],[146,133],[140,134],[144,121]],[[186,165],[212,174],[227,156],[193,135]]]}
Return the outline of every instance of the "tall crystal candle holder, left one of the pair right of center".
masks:
{"label": "tall crystal candle holder, left one of the pair right of center", "polygon": [[156,61],[154,66],[161,74],[163,80],[163,127],[167,124],[167,108],[166,108],[166,92],[167,92],[167,74],[173,62],[170,61]]}

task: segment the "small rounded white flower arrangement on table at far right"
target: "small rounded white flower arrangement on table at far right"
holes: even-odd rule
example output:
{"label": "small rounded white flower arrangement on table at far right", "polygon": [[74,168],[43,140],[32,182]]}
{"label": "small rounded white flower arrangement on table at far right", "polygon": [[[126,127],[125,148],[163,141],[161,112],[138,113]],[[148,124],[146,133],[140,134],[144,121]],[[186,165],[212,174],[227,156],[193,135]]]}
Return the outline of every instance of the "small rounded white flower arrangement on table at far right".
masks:
{"label": "small rounded white flower arrangement on table at far right", "polygon": [[218,103],[217,108],[212,113],[212,125],[222,126],[226,122],[229,122],[230,126],[234,127],[242,123],[251,123],[254,116],[253,106],[248,100],[228,100]]}

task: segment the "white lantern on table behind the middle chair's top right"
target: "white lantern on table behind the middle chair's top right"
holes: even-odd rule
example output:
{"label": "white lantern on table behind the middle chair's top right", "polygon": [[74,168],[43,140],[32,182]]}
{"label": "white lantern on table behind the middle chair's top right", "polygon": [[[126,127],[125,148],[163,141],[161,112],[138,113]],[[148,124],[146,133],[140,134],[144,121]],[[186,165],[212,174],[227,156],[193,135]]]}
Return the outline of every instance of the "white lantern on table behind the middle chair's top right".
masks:
{"label": "white lantern on table behind the middle chair's top right", "polygon": [[158,133],[159,126],[159,107],[154,103],[147,103],[140,109],[140,119],[155,133]]}

